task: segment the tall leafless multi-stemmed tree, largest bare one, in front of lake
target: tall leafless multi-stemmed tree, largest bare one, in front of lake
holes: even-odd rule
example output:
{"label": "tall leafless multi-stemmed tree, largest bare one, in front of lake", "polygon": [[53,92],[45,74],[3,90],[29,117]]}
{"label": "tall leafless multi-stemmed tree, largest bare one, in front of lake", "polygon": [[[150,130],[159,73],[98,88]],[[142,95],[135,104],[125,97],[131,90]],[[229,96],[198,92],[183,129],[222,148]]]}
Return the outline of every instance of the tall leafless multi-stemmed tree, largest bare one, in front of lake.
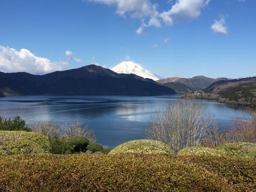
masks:
{"label": "tall leafless multi-stemmed tree, largest bare one, in front of lake", "polygon": [[183,148],[199,146],[207,135],[212,139],[213,118],[199,100],[169,101],[150,116],[145,135],[167,143],[173,153],[178,153]]}

